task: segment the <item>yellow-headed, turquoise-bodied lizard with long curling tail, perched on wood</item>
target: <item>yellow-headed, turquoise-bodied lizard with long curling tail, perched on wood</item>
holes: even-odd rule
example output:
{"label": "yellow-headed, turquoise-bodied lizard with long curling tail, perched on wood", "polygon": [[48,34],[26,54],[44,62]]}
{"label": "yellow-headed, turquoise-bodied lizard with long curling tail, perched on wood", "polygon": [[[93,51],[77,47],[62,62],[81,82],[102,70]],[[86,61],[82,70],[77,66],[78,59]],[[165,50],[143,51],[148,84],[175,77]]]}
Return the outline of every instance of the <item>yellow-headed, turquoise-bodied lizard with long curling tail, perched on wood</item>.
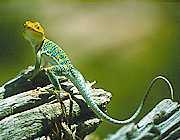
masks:
{"label": "yellow-headed, turquoise-bodied lizard with long curling tail, perched on wood", "polygon": [[36,56],[34,71],[29,75],[27,74],[26,76],[31,80],[40,71],[41,58],[43,58],[45,61],[49,62],[52,65],[45,69],[45,73],[47,74],[49,80],[55,86],[55,89],[57,91],[61,89],[61,86],[56,76],[66,76],[76,86],[76,88],[79,90],[79,93],[86,100],[87,104],[93,110],[93,112],[102,120],[105,120],[109,123],[116,125],[125,125],[132,122],[140,113],[152,85],[158,79],[162,79],[168,84],[171,96],[173,98],[173,88],[171,86],[171,83],[165,77],[157,76],[152,80],[138,109],[129,119],[116,120],[114,118],[111,118],[110,116],[106,115],[101,109],[99,109],[99,107],[92,101],[92,99],[88,95],[88,91],[90,90],[90,88],[88,88],[83,75],[77,69],[75,69],[62,48],[45,37],[45,31],[39,22],[25,21],[23,36],[26,40],[30,41],[30,44]]}

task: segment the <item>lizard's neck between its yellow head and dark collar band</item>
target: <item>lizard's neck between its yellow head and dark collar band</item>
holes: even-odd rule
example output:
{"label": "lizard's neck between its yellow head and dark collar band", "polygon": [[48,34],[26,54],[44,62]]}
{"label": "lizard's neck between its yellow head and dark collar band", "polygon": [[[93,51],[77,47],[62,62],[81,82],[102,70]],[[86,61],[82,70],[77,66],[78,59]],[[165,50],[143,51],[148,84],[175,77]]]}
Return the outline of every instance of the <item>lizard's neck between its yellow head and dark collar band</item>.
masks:
{"label": "lizard's neck between its yellow head and dark collar band", "polygon": [[31,44],[31,46],[33,47],[33,51],[34,51],[35,54],[36,54],[36,53],[39,51],[39,49],[41,48],[44,40],[45,40],[45,37],[44,37],[43,40],[41,40],[41,41],[35,40],[35,39],[30,40],[30,44]]}

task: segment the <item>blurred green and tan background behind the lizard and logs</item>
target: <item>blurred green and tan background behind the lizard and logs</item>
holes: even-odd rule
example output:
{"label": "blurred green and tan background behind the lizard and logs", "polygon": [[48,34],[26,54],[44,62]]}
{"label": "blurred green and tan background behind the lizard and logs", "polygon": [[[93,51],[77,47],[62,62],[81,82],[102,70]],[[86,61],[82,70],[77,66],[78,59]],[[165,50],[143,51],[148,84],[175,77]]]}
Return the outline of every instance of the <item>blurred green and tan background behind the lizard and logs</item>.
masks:
{"label": "blurred green and tan background behind the lizard and logs", "polygon": [[[1,2],[0,85],[35,64],[30,43],[22,37],[26,20],[40,21],[46,37],[59,44],[86,80],[113,94],[107,109],[117,119],[130,117],[151,80],[166,76],[180,101],[180,4],[168,2]],[[169,88],[155,84],[136,122]],[[103,122],[100,139],[119,126]]]}

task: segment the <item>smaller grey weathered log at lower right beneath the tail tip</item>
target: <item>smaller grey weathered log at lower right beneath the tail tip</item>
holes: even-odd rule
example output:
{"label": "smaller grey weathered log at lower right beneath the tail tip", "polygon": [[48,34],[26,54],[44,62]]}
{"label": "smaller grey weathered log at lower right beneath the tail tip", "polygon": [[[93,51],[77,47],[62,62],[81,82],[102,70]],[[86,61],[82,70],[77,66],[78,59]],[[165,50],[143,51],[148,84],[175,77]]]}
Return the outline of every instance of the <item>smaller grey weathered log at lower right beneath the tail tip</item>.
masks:
{"label": "smaller grey weathered log at lower right beneath the tail tip", "polygon": [[180,139],[180,104],[162,100],[136,125],[131,123],[109,135],[106,140],[175,140]]}

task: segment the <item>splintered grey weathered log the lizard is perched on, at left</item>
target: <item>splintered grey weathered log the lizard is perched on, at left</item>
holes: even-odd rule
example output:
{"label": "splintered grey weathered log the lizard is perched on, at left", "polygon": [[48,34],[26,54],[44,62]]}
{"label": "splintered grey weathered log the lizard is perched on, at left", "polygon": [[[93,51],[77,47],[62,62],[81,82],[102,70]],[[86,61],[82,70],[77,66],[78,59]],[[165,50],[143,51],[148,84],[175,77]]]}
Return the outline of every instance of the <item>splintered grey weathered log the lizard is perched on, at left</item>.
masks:
{"label": "splintered grey weathered log the lizard is perched on, at left", "polygon": [[[0,139],[43,137],[76,140],[95,131],[101,119],[91,111],[68,79],[59,77],[62,86],[60,98],[65,106],[62,108],[44,71],[28,81],[23,74],[30,71],[22,71],[0,87]],[[89,95],[105,111],[111,94],[102,89],[91,89]]]}

